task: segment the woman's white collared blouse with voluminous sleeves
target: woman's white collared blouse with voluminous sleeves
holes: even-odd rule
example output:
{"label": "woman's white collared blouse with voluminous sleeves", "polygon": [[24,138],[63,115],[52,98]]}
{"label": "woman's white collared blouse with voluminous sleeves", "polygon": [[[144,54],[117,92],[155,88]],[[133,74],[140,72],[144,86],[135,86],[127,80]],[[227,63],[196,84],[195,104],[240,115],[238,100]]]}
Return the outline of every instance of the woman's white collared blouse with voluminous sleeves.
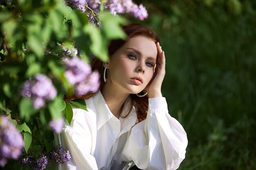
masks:
{"label": "woman's white collared blouse with voluminous sleeves", "polygon": [[[181,124],[168,114],[164,97],[150,98],[147,118],[137,124],[130,115],[117,119],[100,92],[85,99],[88,111],[74,108],[73,119],[59,135],[71,161],[59,170],[122,170],[133,161],[142,170],[175,170],[185,158],[188,140]],[[126,100],[121,114],[129,109]]]}

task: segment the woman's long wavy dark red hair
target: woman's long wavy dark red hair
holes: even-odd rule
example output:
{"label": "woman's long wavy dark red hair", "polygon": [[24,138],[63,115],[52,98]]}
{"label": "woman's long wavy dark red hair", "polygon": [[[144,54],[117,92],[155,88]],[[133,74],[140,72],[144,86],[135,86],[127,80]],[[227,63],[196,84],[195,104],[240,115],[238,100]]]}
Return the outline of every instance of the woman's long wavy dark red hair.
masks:
{"label": "woman's long wavy dark red hair", "polygon": [[[153,40],[155,43],[159,42],[159,38],[158,38],[157,34],[149,26],[145,26],[142,24],[128,24],[128,25],[122,26],[122,29],[128,35],[128,39],[132,38],[132,37],[143,36],[150,40]],[[111,58],[112,55],[119,48],[121,48],[125,43],[126,43],[126,41],[121,40],[121,39],[112,40],[108,46],[109,57]],[[104,72],[103,62],[101,60],[99,60],[98,58],[94,58],[94,60],[92,60],[92,69],[98,70],[101,75],[101,85],[99,88],[99,91],[100,91],[105,84],[105,82],[103,80],[103,72]],[[97,93],[97,92],[95,92],[95,93]],[[92,97],[95,93],[88,93],[87,95],[80,96],[80,97],[74,96],[68,100],[88,99],[88,98]],[[129,109],[128,113],[125,116],[122,116],[122,115],[120,115],[120,116],[123,118],[127,117],[130,114],[132,107],[135,105],[137,108],[136,113],[137,113],[138,122],[146,119],[147,112],[148,112],[148,97],[147,96],[137,97],[137,95],[135,95],[135,94],[130,94],[130,98],[131,98],[132,102],[131,102],[130,109]],[[122,106],[122,108],[123,107],[124,107],[124,105]]]}

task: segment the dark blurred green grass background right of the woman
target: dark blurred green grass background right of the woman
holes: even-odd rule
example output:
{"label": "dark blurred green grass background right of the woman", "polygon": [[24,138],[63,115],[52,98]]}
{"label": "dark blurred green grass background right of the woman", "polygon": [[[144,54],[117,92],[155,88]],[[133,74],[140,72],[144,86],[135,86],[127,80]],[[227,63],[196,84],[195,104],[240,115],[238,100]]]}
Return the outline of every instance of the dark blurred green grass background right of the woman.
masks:
{"label": "dark blurred green grass background right of the woman", "polygon": [[256,170],[256,0],[135,0],[166,55],[162,93],[187,132],[179,170]]}

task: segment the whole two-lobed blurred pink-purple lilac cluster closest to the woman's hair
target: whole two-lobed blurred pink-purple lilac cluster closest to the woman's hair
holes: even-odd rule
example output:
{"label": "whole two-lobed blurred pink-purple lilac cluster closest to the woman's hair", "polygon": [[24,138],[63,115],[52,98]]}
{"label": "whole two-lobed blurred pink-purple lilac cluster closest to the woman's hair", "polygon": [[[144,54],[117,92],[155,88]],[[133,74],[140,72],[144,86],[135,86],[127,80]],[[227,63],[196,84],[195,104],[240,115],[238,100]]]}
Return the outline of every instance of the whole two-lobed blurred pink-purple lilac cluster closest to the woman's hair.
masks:
{"label": "whole two-lobed blurred pink-purple lilac cluster closest to the woman's hair", "polygon": [[91,66],[78,57],[64,60],[66,63],[65,77],[74,85],[76,96],[85,95],[88,92],[96,92],[100,86],[100,75],[93,71]]}

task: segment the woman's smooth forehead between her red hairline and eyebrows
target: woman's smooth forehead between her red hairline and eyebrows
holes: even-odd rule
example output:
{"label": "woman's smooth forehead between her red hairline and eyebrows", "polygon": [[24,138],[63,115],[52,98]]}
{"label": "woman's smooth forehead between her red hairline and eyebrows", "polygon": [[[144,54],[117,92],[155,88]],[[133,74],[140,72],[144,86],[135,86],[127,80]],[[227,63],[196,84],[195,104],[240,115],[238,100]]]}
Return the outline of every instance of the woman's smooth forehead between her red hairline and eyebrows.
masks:
{"label": "woman's smooth forehead between her red hairline and eyebrows", "polygon": [[124,49],[133,48],[146,57],[157,57],[157,46],[155,42],[143,36],[132,37],[123,46]]}

